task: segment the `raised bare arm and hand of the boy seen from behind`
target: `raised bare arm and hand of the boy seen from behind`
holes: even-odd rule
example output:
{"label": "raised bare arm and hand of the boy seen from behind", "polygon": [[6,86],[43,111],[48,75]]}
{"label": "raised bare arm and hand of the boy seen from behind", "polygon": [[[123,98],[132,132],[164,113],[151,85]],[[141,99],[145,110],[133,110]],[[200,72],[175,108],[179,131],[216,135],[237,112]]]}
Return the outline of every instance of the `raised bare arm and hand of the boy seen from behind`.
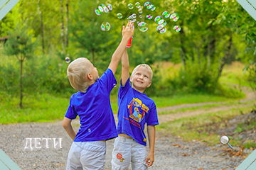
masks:
{"label": "raised bare arm and hand of the boy seen from behind", "polygon": [[117,71],[117,66],[121,60],[122,54],[124,53],[127,42],[129,41],[129,38],[132,37],[133,33],[134,27],[132,22],[127,23],[126,27],[122,27],[122,40],[118,45],[117,50],[114,51],[110,65],[108,67],[112,70],[113,74],[115,74],[115,72]]}

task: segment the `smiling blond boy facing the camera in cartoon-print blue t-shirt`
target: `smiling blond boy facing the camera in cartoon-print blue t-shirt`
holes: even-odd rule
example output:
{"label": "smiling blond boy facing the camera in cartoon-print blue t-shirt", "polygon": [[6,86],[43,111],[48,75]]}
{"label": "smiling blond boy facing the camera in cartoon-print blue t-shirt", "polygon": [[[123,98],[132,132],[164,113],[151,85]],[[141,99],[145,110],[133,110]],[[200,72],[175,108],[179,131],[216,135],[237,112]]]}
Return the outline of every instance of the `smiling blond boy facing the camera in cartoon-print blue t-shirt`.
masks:
{"label": "smiling blond boy facing the camera in cartoon-print blue t-shirt", "polygon": [[[155,127],[158,125],[156,105],[144,94],[151,85],[153,72],[148,64],[139,64],[129,79],[127,50],[122,56],[122,79],[118,91],[118,137],[114,140],[112,169],[147,169],[154,162]],[[129,81],[132,82],[129,84]],[[147,124],[149,154],[146,155]]]}

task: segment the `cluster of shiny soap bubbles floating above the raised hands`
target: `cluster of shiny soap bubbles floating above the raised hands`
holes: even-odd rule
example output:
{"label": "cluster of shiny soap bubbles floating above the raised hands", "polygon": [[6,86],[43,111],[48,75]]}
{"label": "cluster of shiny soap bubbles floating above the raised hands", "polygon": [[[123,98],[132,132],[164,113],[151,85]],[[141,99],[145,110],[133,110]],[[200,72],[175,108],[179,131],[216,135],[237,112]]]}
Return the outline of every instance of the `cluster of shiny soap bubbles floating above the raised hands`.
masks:
{"label": "cluster of shiny soap bubbles floating above the raised hands", "polygon": [[[157,33],[166,33],[166,19],[170,18],[171,21],[178,21],[178,14],[177,13],[169,13],[168,11],[163,11],[161,14],[161,16],[156,16],[154,17],[151,14],[146,14],[145,16],[142,16],[143,13],[143,8],[148,9],[149,11],[155,11],[156,10],[156,6],[154,6],[154,4],[152,4],[150,1],[146,1],[144,3],[144,6],[141,5],[139,2],[136,2],[135,4],[128,4],[127,8],[129,8],[130,10],[134,11],[137,10],[137,14],[136,12],[133,12],[132,15],[130,15],[127,18],[127,21],[132,21],[132,23],[137,21],[137,25],[140,31],[145,32],[146,30],[148,30],[148,25],[147,23],[145,23],[144,21],[141,21],[141,19],[143,19],[144,17],[147,20],[152,20],[154,18],[154,21],[157,23],[158,26],[156,26],[156,32]],[[100,4],[100,6],[98,6],[97,8],[95,8],[95,13],[97,14],[97,16],[100,16],[102,13],[110,13],[110,11],[112,11],[112,5],[111,4],[107,4],[107,6],[105,6],[104,4]],[[163,18],[162,18],[163,16]],[[117,13],[117,18],[121,19],[123,18],[122,13]],[[109,31],[111,26],[110,23],[105,22],[102,23],[102,25],[100,26],[102,31]],[[174,26],[174,30],[176,32],[181,30],[180,26]]]}

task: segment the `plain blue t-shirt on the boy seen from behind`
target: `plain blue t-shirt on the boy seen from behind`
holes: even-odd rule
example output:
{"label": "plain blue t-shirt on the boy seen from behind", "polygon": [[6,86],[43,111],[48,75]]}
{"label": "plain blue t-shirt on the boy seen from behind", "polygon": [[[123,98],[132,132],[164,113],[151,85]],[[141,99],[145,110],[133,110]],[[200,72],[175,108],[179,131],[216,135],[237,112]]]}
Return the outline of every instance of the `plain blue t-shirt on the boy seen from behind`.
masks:
{"label": "plain blue t-shirt on the boy seen from behind", "polygon": [[110,140],[117,137],[114,115],[110,105],[110,91],[117,84],[111,69],[88,87],[85,93],[78,91],[70,97],[65,117],[80,118],[80,129],[75,142]]}

